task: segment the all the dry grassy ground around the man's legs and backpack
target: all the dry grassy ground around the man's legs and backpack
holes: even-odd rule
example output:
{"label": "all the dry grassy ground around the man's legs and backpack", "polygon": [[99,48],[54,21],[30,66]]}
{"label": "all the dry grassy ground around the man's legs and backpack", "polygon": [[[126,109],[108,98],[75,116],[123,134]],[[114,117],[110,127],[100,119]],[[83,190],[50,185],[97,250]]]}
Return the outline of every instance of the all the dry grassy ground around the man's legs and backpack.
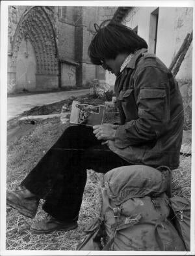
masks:
{"label": "all the dry grassy ground around the man's legs and backpack", "polygon": [[[107,119],[109,120],[109,118]],[[23,125],[20,123],[20,125]],[[67,125],[61,125],[59,119],[40,121],[29,134],[13,140],[7,150],[7,187],[14,189],[25,178],[39,159],[59,138]],[[181,156],[181,165],[173,171],[173,193],[183,195],[190,200],[191,157]],[[7,207],[6,212],[6,249],[8,250],[75,250],[81,232],[90,219],[99,216],[103,174],[88,170],[88,178],[79,214],[79,227],[69,232],[51,234],[31,234],[28,227],[32,221],[42,219],[44,211],[38,208],[34,220],[18,214]]]}

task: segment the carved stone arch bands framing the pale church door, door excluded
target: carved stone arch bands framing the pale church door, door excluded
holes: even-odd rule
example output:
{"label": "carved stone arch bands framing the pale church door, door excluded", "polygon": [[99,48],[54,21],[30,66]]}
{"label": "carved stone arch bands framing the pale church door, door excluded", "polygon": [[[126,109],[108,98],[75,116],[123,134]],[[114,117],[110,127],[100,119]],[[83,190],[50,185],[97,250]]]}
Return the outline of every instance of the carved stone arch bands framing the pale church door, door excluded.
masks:
{"label": "carved stone arch bands framing the pale church door, door excluded", "polygon": [[[43,7],[31,7],[21,16],[12,44],[12,72],[16,72],[22,40],[30,40],[36,58],[36,87],[59,87],[59,56],[53,25]],[[48,87],[49,85],[49,87]]]}

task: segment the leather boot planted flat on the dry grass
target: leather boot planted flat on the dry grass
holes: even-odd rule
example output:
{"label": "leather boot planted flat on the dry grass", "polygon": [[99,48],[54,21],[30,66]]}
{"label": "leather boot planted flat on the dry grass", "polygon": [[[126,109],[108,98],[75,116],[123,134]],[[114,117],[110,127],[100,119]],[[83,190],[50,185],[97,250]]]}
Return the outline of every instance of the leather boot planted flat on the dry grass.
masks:
{"label": "leather boot planted flat on the dry grass", "polygon": [[77,221],[58,221],[54,217],[48,215],[45,219],[32,223],[29,229],[34,234],[48,234],[53,231],[70,231],[77,227]]}

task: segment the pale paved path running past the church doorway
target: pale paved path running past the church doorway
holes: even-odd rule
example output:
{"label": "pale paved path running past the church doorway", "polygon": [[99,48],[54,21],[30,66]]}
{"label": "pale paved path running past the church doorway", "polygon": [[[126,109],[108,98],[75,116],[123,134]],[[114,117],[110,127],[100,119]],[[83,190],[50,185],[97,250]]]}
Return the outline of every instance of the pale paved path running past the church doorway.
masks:
{"label": "pale paved path running past the church doorway", "polygon": [[32,95],[18,95],[16,97],[7,98],[7,120],[16,118],[19,114],[26,110],[34,108],[34,106],[42,106],[58,101],[63,101],[71,96],[85,95],[89,89],[81,89],[76,91],[58,91],[55,93],[40,93]]}

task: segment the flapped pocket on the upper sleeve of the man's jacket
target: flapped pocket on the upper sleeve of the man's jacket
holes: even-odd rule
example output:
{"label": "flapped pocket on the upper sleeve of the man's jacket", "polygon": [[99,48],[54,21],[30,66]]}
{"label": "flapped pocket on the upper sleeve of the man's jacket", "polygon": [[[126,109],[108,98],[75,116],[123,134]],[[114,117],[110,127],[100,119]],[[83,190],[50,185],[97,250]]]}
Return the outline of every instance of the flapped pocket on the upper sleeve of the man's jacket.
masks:
{"label": "flapped pocket on the upper sleeve of the man's jacket", "polygon": [[168,97],[165,88],[140,88],[138,97],[139,118],[168,121],[170,118]]}

